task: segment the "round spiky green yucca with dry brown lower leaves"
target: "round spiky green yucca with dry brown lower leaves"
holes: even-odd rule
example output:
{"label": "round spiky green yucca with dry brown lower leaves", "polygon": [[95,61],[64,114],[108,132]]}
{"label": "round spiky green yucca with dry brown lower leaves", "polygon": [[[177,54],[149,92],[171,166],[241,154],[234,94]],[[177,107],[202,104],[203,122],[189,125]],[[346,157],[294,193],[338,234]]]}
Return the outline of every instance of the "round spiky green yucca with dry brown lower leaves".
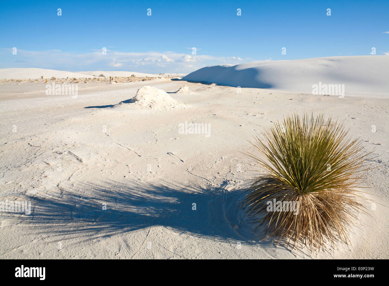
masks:
{"label": "round spiky green yucca with dry brown lower leaves", "polygon": [[[252,179],[243,207],[256,237],[266,234],[296,249],[300,243],[312,253],[328,242],[351,243],[347,229],[365,212],[356,188],[371,168],[371,152],[347,133],[323,114],[294,114],[265,129],[263,138],[254,137],[251,144],[265,159],[246,155],[265,171]],[[278,209],[269,208],[274,202]],[[288,202],[293,211],[286,211]]]}

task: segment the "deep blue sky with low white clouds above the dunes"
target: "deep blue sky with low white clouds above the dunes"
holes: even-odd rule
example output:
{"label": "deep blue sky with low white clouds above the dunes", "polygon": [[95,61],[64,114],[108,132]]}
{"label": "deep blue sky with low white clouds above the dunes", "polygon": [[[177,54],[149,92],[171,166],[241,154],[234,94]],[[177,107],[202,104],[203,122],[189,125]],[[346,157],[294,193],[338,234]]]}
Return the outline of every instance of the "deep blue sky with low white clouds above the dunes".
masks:
{"label": "deep blue sky with low white clouds above the dunes", "polygon": [[3,1],[0,68],[189,73],[207,65],[369,55],[372,47],[383,55],[385,32],[388,0]]}

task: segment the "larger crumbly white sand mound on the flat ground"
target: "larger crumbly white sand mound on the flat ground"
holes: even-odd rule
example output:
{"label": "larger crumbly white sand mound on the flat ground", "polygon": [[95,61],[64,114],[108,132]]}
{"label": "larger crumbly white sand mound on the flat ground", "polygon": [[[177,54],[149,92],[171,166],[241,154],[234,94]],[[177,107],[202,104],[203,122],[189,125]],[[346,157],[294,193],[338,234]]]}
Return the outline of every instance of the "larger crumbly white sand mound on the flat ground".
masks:
{"label": "larger crumbly white sand mound on the flat ground", "polygon": [[131,104],[133,107],[141,109],[154,110],[179,109],[187,106],[182,102],[174,100],[162,89],[154,88],[153,86],[144,86],[138,89],[135,97],[122,101],[113,107],[123,106],[124,104]]}

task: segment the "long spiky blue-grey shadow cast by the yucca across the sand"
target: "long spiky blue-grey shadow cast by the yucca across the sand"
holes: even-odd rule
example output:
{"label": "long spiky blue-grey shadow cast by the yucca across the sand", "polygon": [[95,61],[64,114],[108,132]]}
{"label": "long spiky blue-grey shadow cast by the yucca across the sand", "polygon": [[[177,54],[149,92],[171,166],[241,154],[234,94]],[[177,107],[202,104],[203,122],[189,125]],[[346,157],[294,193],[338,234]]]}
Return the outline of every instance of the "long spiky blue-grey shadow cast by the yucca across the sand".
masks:
{"label": "long spiky blue-grey shadow cast by the yucca across the sand", "polygon": [[49,233],[51,240],[58,241],[67,236],[86,241],[161,225],[204,239],[276,247],[270,239],[252,240],[238,208],[242,190],[226,191],[226,185],[194,188],[165,182],[83,182],[52,189],[44,197],[28,197],[32,213],[23,220],[29,221],[31,233]]}

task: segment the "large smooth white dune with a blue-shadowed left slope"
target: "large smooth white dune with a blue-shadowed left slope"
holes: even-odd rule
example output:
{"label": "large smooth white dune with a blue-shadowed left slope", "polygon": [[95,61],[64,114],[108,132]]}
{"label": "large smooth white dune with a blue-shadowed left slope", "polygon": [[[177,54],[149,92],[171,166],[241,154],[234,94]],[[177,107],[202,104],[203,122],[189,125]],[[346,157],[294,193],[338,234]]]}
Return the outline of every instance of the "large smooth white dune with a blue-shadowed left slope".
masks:
{"label": "large smooth white dune with a blue-shadowed left slope", "polygon": [[182,80],[242,88],[274,88],[312,93],[312,85],[344,84],[345,92],[389,93],[389,56],[338,56],[258,61],[200,68]]}

